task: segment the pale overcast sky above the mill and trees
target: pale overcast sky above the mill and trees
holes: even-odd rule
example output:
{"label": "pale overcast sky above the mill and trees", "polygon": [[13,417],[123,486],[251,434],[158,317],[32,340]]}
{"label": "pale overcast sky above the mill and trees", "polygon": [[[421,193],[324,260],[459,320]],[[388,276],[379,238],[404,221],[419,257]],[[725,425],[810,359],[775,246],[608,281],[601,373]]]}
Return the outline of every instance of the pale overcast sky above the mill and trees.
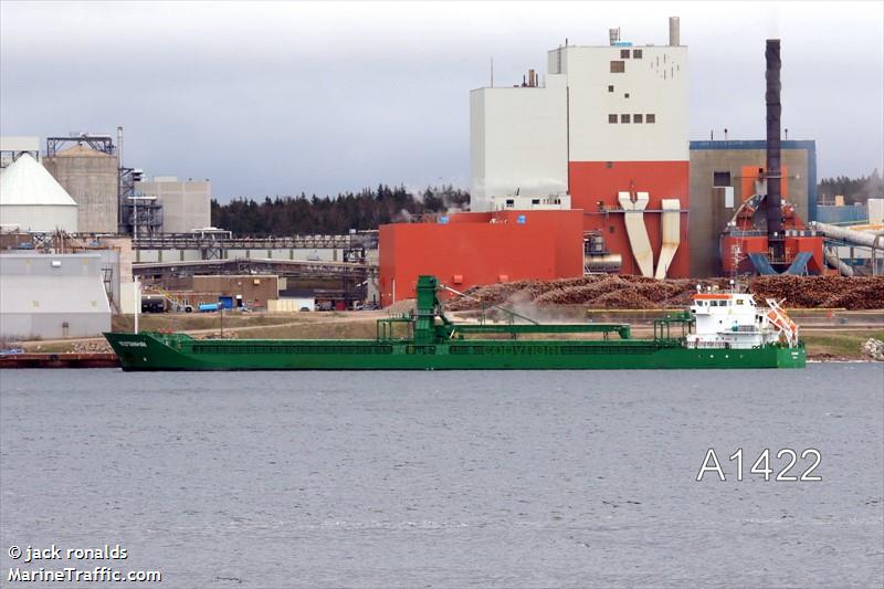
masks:
{"label": "pale overcast sky above the mill and trees", "polygon": [[546,73],[608,28],[690,46],[691,138],[765,135],[765,39],[783,126],[820,177],[884,168],[884,2],[0,2],[0,133],[125,127],[125,160],[235,196],[470,183],[472,88]]}

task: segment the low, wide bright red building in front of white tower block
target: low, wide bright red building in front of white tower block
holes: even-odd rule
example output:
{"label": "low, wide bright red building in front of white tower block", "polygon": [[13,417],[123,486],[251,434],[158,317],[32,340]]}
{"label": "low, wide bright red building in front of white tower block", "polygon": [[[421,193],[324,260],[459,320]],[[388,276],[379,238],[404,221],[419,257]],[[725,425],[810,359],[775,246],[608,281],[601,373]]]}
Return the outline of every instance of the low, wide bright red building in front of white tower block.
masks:
{"label": "low, wide bright red building in front of white tower block", "polygon": [[414,297],[421,274],[462,291],[583,275],[583,211],[462,212],[380,227],[380,302]]}

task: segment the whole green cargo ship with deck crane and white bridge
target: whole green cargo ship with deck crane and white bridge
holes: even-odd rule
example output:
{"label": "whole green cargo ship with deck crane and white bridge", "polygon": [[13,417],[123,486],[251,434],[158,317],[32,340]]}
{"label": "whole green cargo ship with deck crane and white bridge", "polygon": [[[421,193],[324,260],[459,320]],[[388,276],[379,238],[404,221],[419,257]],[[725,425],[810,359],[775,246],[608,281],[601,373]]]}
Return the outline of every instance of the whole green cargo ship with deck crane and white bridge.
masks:
{"label": "whole green cargo ship with deck crane and white bridge", "polygon": [[[750,295],[699,293],[688,312],[656,319],[653,338],[632,338],[629,325],[541,325],[512,312],[509,323],[454,323],[442,312],[439,287],[434,276],[420,276],[415,312],[378,319],[375,339],[230,340],[162,333],[105,337],[126,371],[801,368],[806,362],[794,324],[779,307],[775,311],[781,316],[776,317],[756,309]],[[706,315],[711,322],[704,320]],[[717,327],[696,330],[706,324]],[[483,338],[492,334],[495,338]],[[556,338],[562,334],[597,335]]]}

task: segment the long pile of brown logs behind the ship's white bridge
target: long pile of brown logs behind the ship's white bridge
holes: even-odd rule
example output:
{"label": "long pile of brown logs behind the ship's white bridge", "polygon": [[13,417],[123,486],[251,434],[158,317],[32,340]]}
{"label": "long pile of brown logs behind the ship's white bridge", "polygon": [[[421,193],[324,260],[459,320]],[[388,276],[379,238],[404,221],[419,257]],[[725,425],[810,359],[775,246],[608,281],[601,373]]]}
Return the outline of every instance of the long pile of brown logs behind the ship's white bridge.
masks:
{"label": "long pile of brown logs behind the ship's white bridge", "polygon": [[[697,284],[704,288],[729,287],[728,278],[666,280],[642,276],[598,275],[550,282],[519,281],[470,288],[469,297],[449,301],[451,311],[480,308],[482,304],[506,305],[513,301],[535,305],[583,305],[591,308],[649,309],[684,307]],[[758,276],[749,290],[759,303],[786,299],[791,308],[884,308],[884,276]],[[476,301],[476,298],[478,301]]]}

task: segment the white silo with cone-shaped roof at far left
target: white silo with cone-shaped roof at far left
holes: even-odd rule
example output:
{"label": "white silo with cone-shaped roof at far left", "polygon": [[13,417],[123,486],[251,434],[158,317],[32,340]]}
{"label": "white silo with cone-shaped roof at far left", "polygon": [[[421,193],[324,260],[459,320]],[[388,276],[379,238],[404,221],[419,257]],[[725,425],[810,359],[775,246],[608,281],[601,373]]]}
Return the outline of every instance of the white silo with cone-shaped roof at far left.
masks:
{"label": "white silo with cone-shaped roof at far left", "polygon": [[23,154],[0,175],[0,225],[75,233],[77,204],[43,166]]}

